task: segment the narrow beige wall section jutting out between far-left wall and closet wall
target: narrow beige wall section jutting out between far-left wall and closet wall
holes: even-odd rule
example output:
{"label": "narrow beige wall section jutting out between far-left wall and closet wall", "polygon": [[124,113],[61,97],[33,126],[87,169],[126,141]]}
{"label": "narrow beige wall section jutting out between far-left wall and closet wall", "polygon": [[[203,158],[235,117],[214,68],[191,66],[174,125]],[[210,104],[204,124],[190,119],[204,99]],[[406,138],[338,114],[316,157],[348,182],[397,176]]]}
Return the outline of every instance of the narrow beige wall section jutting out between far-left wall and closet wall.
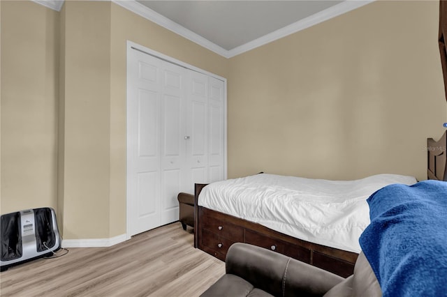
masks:
{"label": "narrow beige wall section jutting out between far-left wall and closet wall", "polygon": [[64,238],[110,237],[110,2],[64,3]]}

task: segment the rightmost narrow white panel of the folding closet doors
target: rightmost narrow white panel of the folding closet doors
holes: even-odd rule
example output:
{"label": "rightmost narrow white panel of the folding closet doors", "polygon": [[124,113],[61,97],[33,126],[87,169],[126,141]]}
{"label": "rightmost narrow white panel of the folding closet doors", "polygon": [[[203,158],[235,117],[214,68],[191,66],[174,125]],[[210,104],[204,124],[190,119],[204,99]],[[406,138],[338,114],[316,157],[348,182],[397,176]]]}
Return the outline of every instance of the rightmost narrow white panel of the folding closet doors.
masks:
{"label": "rightmost narrow white panel of the folding closet doors", "polygon": [[208,77],[208,182],[225,179],[225,84]]}

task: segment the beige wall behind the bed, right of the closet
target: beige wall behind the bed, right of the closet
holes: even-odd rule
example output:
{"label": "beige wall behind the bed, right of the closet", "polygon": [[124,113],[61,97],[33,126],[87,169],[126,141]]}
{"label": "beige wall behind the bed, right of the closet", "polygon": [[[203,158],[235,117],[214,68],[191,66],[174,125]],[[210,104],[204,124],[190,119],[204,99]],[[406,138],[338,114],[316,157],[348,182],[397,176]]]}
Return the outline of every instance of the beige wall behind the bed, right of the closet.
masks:
{"label": "beige wall behind the bed, right of the closet", "polygon": [[437,1],[376,1],[230,59],[228,175],[426,178],[446,120]]}

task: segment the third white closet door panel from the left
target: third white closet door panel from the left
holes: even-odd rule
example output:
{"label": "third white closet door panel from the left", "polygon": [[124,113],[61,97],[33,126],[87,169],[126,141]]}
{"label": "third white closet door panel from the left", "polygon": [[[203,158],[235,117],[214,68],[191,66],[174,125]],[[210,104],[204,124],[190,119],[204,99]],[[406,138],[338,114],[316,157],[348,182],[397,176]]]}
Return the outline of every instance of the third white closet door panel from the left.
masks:
{"label": "third white closet door panel from the left", "polygon": [[208,183],[208,76],[189,71],[188,82],[186,160],[189,167],[189,189],[187,192],[193,193],[194,183]]}

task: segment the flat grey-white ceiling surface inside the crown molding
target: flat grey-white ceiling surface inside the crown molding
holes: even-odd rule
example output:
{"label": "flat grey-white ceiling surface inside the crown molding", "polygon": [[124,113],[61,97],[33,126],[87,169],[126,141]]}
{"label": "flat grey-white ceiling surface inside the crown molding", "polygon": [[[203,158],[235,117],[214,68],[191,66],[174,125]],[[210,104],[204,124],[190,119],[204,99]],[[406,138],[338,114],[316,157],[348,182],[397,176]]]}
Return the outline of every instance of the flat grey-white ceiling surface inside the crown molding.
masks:
{"label": "flat grey-white ceiling surface inside the crown molding", "polygon": [[224,50],[233,50],[342,1],[137,2]]}

